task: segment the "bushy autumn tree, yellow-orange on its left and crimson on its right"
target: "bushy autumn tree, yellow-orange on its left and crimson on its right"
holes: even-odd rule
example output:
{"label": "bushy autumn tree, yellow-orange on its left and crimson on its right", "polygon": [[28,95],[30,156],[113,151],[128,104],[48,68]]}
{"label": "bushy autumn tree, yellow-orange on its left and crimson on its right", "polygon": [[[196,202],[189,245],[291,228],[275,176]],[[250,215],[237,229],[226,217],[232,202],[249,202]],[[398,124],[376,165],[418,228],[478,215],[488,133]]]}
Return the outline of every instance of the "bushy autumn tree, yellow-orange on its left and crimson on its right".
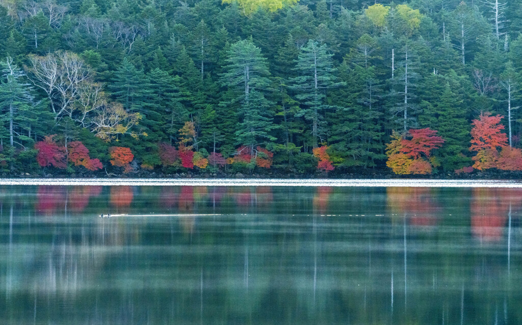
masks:
{"label": "bushy autumn tree, yellow-orange on its left and crimson on its right", "polygon": [[393,133],[392,141],[386,145],[386,166],[396,174],[430,174],[436,165],[431,152],[442,147],[444,139],[430,128],[410,129],[408,135],[411,139]]}

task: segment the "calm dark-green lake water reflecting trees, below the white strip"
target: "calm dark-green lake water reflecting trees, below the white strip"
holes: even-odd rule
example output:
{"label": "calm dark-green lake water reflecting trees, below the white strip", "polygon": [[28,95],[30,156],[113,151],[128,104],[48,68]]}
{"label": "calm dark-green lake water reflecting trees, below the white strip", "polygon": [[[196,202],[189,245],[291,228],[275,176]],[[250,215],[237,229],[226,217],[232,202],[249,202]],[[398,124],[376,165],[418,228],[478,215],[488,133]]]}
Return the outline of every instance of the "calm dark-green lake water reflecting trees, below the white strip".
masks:
{"label": "calm dark-green lake water reflecting trees, below the white strip", "polygon": [[521,215],[522,189],[0,186],[0,323],[521,324]]}

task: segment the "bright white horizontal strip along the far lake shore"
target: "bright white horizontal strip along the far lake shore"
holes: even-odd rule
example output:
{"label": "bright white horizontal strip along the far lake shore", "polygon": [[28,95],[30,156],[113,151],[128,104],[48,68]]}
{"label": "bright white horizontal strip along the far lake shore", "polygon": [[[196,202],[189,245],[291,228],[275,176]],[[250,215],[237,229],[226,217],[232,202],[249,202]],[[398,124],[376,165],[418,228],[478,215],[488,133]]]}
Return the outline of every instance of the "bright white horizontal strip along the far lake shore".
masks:
{"label": "bright white horizontal strip along the far lake shore", "polygon": [[522,188],[521,180],[435,179],[154,179],[154,178],[5,178],[0,185],[57,186],[332,186],[332,187],[506,187]]}

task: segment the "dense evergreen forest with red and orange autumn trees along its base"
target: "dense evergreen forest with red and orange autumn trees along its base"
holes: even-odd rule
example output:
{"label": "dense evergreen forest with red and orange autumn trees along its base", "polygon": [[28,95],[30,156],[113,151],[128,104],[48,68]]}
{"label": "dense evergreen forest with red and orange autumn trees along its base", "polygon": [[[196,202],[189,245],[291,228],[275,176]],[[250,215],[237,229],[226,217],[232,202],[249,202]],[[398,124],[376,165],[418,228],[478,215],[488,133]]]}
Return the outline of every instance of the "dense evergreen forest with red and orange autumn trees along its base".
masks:
{"label": "dense evergreen forest with red and orange autumn trees along its base", "polygon": [[0,0],[0,173],[522,170],[522,2]]}

